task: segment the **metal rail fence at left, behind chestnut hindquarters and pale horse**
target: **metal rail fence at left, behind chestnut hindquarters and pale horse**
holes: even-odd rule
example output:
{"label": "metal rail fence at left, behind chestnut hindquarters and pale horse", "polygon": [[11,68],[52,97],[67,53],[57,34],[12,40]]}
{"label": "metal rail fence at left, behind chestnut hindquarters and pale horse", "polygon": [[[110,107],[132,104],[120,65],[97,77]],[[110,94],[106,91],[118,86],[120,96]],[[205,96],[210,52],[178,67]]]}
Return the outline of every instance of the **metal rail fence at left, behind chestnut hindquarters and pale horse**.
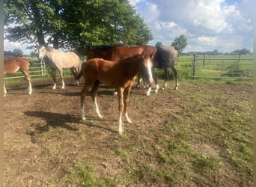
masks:
{"label": "metal rail fence at left, behind chestnut hindquarters and pale horse", "polygon": [[[31,61],[32,64],[29,67],[30,76],[45,76],[46,75],[46,64],[44,61]],[[11,73],[4,75],[4,79],[17,79],[24,77],[23,74],[18,71],[16,73]]]}

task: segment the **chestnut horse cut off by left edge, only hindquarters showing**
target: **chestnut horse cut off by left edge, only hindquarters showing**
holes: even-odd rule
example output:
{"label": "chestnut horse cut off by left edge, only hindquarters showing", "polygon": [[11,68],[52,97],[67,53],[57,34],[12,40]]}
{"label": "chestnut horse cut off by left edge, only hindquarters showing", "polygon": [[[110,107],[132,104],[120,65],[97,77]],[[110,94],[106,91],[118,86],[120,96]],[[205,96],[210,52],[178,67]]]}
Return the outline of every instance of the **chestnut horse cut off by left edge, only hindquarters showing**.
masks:
{"label": "chestnut horse cut off by left edge, only hindquarters showing", "polygon": [[[24,74],[25,79],[28,82],[29,95],[32,93],[31,78],[28,72],[30,64],[31,62],[28,61],[28,59],[22,57],[16,57],[6,60],[4,59],[4,75],[8,73],[16,73],[18,70],[20,70]],[[6,93],[7,91],[4,85],[4,96],[6,95]]]}

